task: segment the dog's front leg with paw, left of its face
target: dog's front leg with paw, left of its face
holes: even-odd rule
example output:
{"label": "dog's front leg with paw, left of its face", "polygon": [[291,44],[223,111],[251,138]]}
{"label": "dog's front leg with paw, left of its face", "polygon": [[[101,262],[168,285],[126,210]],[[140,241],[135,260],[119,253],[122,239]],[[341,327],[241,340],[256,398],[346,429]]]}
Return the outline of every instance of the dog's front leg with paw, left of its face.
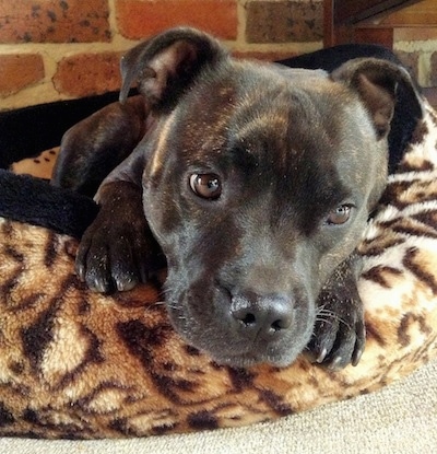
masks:
{"label": "dog's front leg with paw, left of its face", "polygon": [[143,167],[144,153],[135,151],[96,195],[101,210],[85,231],[76,256],[78,276],[92,290],[130,290],[165,264],[144,217]]}

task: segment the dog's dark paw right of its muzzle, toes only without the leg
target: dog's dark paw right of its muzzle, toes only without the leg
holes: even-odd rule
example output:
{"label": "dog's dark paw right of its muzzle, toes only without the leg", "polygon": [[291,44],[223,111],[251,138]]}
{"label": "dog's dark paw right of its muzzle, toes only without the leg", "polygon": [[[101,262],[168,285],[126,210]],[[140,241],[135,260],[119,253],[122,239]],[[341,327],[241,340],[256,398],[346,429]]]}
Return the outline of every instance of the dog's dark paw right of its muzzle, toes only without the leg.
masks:
{"label": "dog's dark paw right of its muzzle, toes only without the leg", "polygon": [[[340,293],[347,293],[347,290]],[[366,341],[359,296],[342,296],[330,290],[321,292],[314,334],[307,346],[311,359],[332,370],[350,363],[356,365]]]}

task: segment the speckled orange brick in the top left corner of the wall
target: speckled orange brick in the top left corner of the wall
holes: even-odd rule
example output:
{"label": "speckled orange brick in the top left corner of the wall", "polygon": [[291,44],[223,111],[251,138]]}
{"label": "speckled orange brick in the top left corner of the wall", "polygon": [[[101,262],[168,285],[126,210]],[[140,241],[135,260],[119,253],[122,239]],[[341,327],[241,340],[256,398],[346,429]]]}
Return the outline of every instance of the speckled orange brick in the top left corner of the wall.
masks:
{"label": "speckled orange brick in the top left corner of the wall", "polygon": [[110,39],[107,0],[0,2],[0,43],[92,43]]}

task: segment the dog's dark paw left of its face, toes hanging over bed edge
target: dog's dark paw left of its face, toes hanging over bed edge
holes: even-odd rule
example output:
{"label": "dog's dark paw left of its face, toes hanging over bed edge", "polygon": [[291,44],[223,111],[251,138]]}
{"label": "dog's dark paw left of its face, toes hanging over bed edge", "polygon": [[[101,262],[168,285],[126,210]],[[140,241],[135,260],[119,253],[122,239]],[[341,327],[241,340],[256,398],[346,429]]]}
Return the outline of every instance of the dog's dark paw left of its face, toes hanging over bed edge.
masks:
{"label": "dog's dark paw left of its face, toes hanging over bed edge", "polygon": [[[80,243],[75,270],[91,290],[131,290],[155,269],[157,248],[145,219],[126,222],[99,213]],[[141,219],[140,219],[141,218]]]}

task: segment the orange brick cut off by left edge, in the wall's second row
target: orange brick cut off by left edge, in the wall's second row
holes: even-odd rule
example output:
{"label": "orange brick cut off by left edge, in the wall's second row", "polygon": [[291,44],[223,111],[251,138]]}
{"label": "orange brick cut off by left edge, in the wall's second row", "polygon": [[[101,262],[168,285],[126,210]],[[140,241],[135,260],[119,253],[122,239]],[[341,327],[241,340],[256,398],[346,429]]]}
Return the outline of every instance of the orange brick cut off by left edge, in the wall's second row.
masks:
{"label": "orange brick cut off by left edge, in the wall's second row", "polygon": [[44,79],[44,62],[39,55],[0,56],[0,96],[16,93]]}

